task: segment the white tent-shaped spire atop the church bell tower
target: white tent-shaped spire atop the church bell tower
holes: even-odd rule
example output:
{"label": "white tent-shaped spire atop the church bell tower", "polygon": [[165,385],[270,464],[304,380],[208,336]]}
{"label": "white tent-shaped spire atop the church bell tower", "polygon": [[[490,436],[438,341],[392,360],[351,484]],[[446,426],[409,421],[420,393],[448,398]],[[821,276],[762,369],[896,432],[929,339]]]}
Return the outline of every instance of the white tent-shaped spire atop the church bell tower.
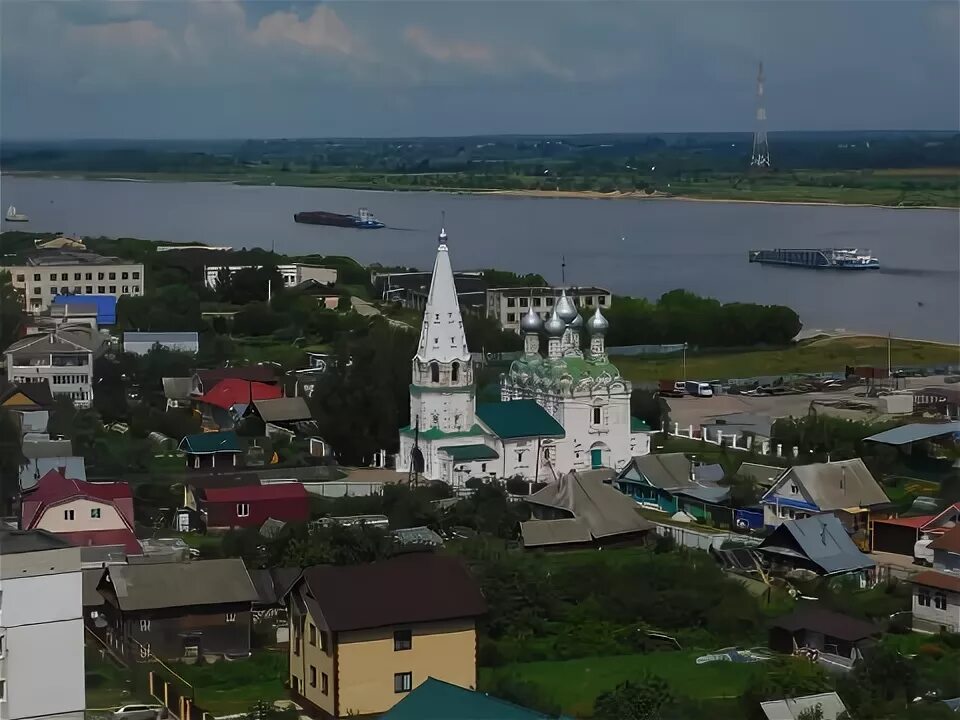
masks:
{"label": "white tent-shaped spire atop the church bell tower", "polygon": [[457,288],[453,282],[445,229],[441,228],[437,242],[437,259],[433,264],[416,359],[422,363],[469,362],[470,352],[463,332],[463,318],[460,316]]}

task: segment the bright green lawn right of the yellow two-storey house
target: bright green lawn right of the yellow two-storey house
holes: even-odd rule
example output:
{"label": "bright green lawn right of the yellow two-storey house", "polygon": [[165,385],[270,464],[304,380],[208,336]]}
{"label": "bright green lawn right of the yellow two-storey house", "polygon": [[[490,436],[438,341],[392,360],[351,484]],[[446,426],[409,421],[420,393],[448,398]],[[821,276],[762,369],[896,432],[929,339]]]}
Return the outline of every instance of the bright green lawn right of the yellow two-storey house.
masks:
{"label": "bright green lawn right of the yellow two-storey house", "polygon": [[706,651],[656,652],[481,668],[480,686],[495,674],[505,673],[538,686],[564,712],[589,717],[598,695],[645,672],[664,678],[677,695],[706,699],[741,695],[762,667],[730,662],[697,665],[696,658],[704,654]]}

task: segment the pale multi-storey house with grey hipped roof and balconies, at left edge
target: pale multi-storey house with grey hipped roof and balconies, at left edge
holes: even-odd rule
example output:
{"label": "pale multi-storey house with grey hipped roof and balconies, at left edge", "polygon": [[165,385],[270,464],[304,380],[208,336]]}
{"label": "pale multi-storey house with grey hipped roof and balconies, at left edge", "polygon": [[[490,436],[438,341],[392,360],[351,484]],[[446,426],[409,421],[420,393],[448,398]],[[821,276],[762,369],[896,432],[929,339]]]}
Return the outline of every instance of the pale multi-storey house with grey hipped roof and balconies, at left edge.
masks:
{"label": "pale multi-storey house with grey hipped roof and balconies, at left edge", "polygon": [[11,383],[46,381],[54,395],[66,395],[77,407],[93,402],[93,360],[104,349],[103,338],[89,327],[61,326],[27,335],[5,351]]}

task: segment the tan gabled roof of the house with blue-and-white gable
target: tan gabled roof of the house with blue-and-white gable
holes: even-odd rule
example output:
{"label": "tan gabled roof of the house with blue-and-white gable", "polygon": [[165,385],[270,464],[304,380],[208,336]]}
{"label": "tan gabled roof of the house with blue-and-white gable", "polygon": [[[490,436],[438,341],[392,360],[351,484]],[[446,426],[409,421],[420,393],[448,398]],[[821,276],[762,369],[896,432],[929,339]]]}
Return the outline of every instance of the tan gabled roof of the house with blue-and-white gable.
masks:
{"label": "tan gabled roof of the house with blue-and-white gable", "polygon": [[843,510],[850,507],[870,507],[890,502],[880,484],[860,458],[829,463],[794,465],[770,489],[771,497],[764,502],[773,504],[772,497],[779,486],[795,481],[820,510]]}

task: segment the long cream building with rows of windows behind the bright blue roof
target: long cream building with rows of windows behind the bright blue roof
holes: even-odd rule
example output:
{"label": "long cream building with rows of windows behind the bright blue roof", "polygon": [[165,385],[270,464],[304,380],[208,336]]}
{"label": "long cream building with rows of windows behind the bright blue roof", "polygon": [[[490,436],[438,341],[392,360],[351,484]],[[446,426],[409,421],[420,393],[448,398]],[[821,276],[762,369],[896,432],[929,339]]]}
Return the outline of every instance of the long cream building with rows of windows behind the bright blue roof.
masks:
{"label": "long cream building with rows of windows behind the bright blue roof", "polygon": [[23,294],[31,313],[50,307],[57,295],[143,295],[142,263],[132,263],[76,249],[47,249],[30,255],[23,265],[3,268]]}

